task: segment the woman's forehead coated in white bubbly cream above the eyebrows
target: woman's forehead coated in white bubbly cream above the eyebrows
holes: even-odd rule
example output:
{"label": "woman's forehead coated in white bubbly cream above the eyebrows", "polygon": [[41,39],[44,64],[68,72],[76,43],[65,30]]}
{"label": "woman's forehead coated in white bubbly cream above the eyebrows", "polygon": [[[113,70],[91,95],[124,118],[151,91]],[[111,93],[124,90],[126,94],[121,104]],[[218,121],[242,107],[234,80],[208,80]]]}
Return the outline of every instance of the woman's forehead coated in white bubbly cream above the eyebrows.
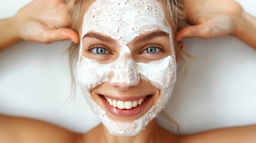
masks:
{"label": "woman's forehead coated in white bubbly cream above the eyebrows", "polygon": [[110,36],[122,45],[158,29],[171,33],[156,0],[98,0],[85,14],[82,36],[94,31]]}

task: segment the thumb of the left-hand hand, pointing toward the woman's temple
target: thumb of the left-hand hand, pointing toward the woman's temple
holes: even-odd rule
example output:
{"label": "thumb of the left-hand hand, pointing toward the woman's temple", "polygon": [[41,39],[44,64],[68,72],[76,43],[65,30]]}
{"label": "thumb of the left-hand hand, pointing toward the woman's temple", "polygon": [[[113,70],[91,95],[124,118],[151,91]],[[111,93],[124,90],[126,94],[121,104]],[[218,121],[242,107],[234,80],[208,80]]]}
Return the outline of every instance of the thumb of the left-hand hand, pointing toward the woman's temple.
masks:
{"label": "thumb of the left-hand hand, pointing toward the woman's temple", "polygon": [[55,29],[45,33],[42,42],[52,43],[56,41],[73,41],[79,43],[79,35],[72,29]]}

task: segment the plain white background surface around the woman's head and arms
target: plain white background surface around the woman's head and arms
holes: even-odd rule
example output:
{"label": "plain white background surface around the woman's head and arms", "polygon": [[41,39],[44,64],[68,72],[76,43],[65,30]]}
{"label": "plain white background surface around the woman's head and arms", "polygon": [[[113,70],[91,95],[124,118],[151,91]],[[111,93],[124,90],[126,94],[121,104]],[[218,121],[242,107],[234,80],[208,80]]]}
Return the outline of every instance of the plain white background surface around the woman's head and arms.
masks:
{"label": "plain white background surface around the woman's head and arms", "polygon": [[[28,2],[1,0],[0,18],[15,15]],[[256,1],[238,2],[256,16]],[[183,85],[178,77],[165,108],[182,133],[255,124],[256,51],[231,36],[184,42],[184,50],[198,60],[190,61],[192,72]],[[69,43],[20,42],[0,52],[0,113],[41,119],[76,132],[99,123],[79,87],[68,100],[71,80],[65,51]],[[175,131],[163,117],[158,120]]]}

